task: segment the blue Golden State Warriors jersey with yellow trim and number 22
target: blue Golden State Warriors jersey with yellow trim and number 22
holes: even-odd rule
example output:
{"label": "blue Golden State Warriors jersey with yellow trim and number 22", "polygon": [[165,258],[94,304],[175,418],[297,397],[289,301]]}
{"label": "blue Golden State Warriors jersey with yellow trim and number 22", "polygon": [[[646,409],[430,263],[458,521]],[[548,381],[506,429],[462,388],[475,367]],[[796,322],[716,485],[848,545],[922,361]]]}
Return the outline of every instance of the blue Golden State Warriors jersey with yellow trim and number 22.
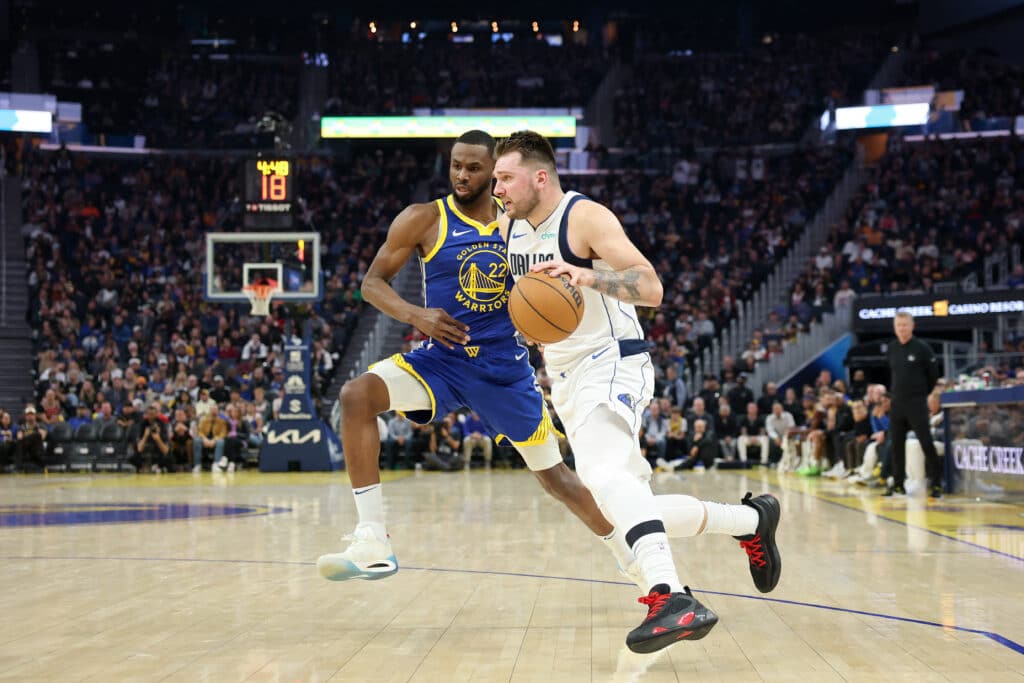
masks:
{"label": "blue Golden State Warriors jersey with yellow trim and number 22", "polygon": [[512,279],[498,221],[484,225],[466,216],[452,195],[436,204],[437,243],[422,259],[427,308],[443,308],[468,325],[473,347],[512,342],[515,328],[505,312]]}

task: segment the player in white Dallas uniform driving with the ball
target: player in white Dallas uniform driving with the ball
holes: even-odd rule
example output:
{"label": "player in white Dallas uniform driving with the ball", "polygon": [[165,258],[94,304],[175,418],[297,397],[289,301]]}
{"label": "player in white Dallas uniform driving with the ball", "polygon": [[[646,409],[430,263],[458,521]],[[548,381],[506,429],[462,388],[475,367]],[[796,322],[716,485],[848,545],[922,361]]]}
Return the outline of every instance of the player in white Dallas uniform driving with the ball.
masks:
{"label": "player in white Dallas uniform driving with the ball", "polygon": [[580,326],[566,340],[546,345],[544,357],[580,478],[626,533],[649,589],[640,598],[648,605],[647,616],[626,643],[634,651],[652,652],[677,640],[702,638],[718,616],[680,582],[668,537],[736,537],[755,585],[767,593],[781,570],[774,540],[778,501],[748,494],[742,505],[721,505],[653,495],[638,435],[654,373],[634,305],[660,305],[657,273],[611,211],[562,190],[554,151],[542,135],[513,133],[498,143],[496,154],[495,195],[506,211],[499,228],[513,276],[564,273],[583,291]]}

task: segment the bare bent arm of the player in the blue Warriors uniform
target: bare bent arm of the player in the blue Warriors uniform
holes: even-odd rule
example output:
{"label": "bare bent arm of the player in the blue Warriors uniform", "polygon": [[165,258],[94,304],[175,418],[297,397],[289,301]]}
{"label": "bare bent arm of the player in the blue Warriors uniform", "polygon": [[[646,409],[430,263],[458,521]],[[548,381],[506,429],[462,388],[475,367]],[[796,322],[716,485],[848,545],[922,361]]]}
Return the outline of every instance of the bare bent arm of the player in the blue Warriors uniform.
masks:
{"label": "bare bent arm of the player in the blue Warriors uniform", "polygon": [[469,329],[440,308],[424,308],[406,301],[390,284],[417,247],[434,234],[437,220],[437,208],[433,204],[414,204],[395,216],[384,244],[367,269],[362,298],[378,310],[415,326],[431,339],[452,348],[452,344],[469,341]]}

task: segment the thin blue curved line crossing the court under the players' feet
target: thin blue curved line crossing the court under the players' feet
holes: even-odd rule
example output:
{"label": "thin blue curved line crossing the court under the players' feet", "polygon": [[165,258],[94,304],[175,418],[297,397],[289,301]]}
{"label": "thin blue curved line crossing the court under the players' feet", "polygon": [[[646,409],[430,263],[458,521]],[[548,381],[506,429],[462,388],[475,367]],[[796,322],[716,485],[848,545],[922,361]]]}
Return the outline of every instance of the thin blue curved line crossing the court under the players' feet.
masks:
{"label": "thin blue curved line crossing the court under the players' feet", "polygon": [[[216,559],[216,558],[204,558],[204,557],[95,557],[95,556],[84,556],[84,555],[6,555],[0,556],[2,560],[105,560],[113,562],[121,561],[136,561],[136,562],[203,562],[211,564],[279,564],[286,566],[314,566],[315,562],[302,562],[302,561],[290,561],[290,560],[227,560],[227,559]],[[583,584],[607,584],[612,586],[633,586],[632,583],[623,581],[605,581],[602,579],[581,579],[579,577],[556,577],[541,573],[523,573],[519,571],[495,571],[492,569],[451,569],[445,567],[414,567],[414,566],[401,566],[400,568],[412,570],[412,571],[437,571],[444,573],[473,573],[473,574],[488,574],[493,577],[518,577],[521,579],[548,579],[554,581],[572,581]],[[1009,647],[1018,654],[1024,654],[1024,645],[1018,643],[1006,636],[1001,636],[992,631],[985,631],[983,629],[969,629],[964,626],[952,626],[949,624],[940,624],[938,622],[929,622],[927,620],[913,618],[910,616],[897,616],[895,614],[883,614],[882,612],[869,612],[862,609],[850,609],[849,607],[836,607],[834,605],[822,605],[816,602],[803,602],[800,600],[785,600],[783,598],[767,598],[760,595],[744,595],[742,593],[724,593],[721,591],[705,591],[699,589],[694,589],[694,593],[707,593],[708,595],[720,595],[729,598],[742,598],[744,600],[760,600],[762,602],[775,602],[782,605],[792,605],[795,607],[813,607],[815,609],[827,609],[829,611],[844,612],[847,614],[859,614],[861,616],[873,616],[876,618],[884,618],[891,622],[902,622],[904,624],[918,624],[921,626],[930,626],[937,629],[948,629],[950,631],[959,631],[962,633],[973,633],[979,636],[985,636],[989,640],[992,640],[1004,647]]]}

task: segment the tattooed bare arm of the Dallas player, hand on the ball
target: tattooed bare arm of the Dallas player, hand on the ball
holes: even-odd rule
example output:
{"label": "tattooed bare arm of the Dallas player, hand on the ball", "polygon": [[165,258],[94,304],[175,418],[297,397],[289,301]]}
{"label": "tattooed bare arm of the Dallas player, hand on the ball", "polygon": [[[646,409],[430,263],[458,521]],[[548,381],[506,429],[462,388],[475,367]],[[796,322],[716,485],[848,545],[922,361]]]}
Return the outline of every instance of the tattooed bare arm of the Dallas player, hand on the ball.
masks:
{"label": "tattooed bare arm of the Dallas player, hand on the ball", "polygon": [[580,202],[569,214],[569,243],[580,256],[593,254],[613,268],[594,270],[562,261],[544,261],[531,270],[568,274],[574,286],[589,287],[613,299],[641,306],[658,306],[665,290],[650,261],[640,253],[622,224],[597,202]]}

